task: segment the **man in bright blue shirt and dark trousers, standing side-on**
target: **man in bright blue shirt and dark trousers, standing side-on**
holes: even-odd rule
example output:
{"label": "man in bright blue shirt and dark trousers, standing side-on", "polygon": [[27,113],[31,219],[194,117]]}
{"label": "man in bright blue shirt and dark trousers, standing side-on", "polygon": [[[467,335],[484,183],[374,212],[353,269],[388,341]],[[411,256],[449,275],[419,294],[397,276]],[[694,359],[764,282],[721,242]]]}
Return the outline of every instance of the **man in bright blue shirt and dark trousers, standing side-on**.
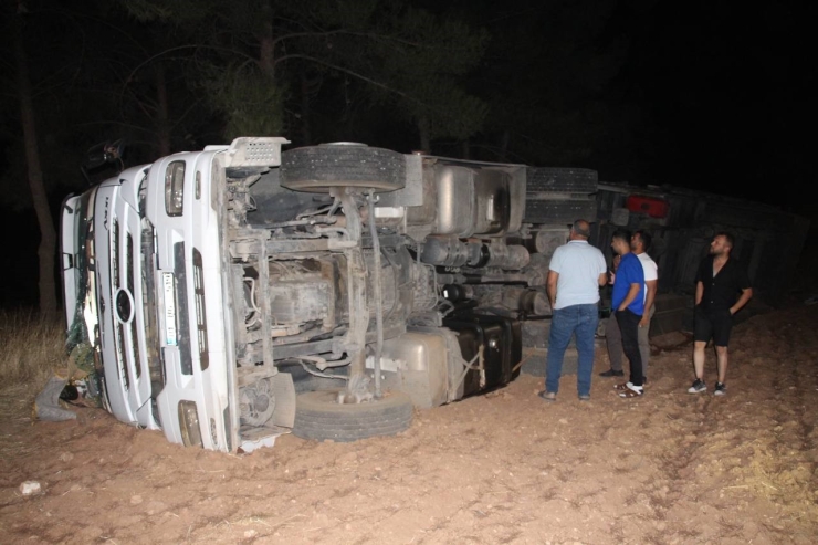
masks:
{"label": "man in bright blue shirt and dark trousers, standing side-on", "polygon": [[639,354],[639,323],[644,314],[644,271],[630,251],[630,233],[618,230],[611,238],[611,248],[621,259],[614,274],[611,304],[614,317],[622,336],[622,348],[630,361],[630,380],[615,386],[619,397],[635,398],[643,390],[642,356]]}

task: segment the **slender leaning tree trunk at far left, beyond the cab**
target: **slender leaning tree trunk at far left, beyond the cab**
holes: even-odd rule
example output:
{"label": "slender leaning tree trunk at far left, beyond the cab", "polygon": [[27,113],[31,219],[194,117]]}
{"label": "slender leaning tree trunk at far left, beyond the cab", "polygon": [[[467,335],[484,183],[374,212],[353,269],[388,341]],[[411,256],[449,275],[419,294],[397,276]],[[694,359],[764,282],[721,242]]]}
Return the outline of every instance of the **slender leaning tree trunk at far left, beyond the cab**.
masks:
{"label": "slender leaning tree trunk at far left, beyond the cab", "polygon": [[20,99],[20,118],[25,145],[25,163],[28,166],[29,186],[34,201],[34,211],[40,224],[40,313],[51,318],[56,315],[56,281],[54,277],[54,256],[56,255],[56,231],[54,220],[49,209],[49,198],[43,182],[43,171],[40,165],[40,149],[36,144],[36,125],[34,120],[34,103],[31,94],[28,57],[23,44],[22,20],[14,15],[12,30],[12,46],[14,49],[14,64],[17,69],[17,86]]}

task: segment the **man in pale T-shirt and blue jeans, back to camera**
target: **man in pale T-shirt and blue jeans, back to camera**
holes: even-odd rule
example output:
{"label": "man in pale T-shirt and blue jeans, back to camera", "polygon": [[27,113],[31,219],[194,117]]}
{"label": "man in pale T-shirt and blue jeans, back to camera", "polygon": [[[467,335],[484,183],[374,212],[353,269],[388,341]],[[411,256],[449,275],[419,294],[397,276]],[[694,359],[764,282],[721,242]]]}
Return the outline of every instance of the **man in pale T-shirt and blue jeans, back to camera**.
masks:
{"label": "man in pale T-shirt and blue jeans, back to camera", "polygon": [[588,244],[590,226],[577,220],[570,229],[568,243],[556,249],[548,264],[546,291],[554,311],[548,335],[545,390],[538,395],[556,401],[563,373],[565,349],[576,334],[579,363],[577,392],[579,399],[590,399],[590,376],[594,370],[594,335],[599,324],[599,287],[606,284],[605,256]]}

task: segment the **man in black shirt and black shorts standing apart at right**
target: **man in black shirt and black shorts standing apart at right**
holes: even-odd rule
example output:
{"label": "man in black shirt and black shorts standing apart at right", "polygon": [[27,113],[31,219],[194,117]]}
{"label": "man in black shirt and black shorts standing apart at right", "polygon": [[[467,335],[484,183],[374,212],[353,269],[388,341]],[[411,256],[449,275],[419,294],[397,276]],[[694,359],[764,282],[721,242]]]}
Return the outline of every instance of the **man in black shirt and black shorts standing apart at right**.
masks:
{"label": "man in black shirt and black shorts standing apart at right", "polygon": [[[696,273],[695,327],[693,336],[693,368],[696,379],[688,391],[706,391],[704,384],[704,347],[712,338],[716,349],[719,381],[716,396],[727,394],[727,343],[733,328],[733,315],[753,296],[747,272],[730,256],[733,237],[717,233],[710,243],[710,254],[702,260]],[[736,295],[741,296],[736,301]]]}

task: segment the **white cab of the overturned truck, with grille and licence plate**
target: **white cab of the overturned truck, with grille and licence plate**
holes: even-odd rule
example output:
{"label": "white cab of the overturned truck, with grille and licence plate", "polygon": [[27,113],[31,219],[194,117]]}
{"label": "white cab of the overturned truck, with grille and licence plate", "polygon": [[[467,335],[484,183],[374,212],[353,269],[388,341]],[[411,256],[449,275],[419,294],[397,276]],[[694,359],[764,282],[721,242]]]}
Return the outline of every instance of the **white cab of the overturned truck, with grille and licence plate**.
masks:
{"label": "white cab of the overturned truck, with grille and licence plate", "polygon": [[[226,165],[258,163],[242,146],[264,147],[263,163],[276,167],[285,142],[251,140],[129,168],[62,212],[66,319],[84,322],[105,408],[172,442],[222,451],[242,442],[213,191]],[[243,448],[283,431],[270,430]]]}

